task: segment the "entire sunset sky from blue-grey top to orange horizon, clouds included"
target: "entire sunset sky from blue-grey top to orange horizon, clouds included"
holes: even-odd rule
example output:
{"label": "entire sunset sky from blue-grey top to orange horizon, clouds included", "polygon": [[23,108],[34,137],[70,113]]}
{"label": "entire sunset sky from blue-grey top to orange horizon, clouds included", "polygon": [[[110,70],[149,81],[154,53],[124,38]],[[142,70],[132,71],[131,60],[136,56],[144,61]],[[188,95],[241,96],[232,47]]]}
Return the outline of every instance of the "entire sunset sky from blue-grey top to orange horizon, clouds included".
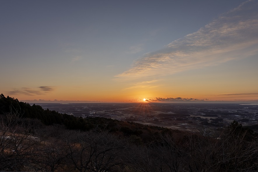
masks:
{"label": "entire sunset sky from blue-grey top to orange horizon, clouds included", "polygon": [[0,92],[258,102],[258,0],[2,0]]}

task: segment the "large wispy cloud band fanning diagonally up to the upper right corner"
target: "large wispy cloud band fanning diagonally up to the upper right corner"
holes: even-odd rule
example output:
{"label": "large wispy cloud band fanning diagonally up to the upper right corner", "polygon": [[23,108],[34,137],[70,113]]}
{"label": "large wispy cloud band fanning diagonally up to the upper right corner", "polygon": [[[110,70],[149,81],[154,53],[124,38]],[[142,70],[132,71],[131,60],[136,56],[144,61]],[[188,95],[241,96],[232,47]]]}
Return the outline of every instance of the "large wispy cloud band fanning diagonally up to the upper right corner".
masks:
{"label": "large wispy cloud band fanning diagonally up to the upper right corner", "polygon": [[258,3],[246,1],[197,32],[147,53],[117,80],[167,75],[254,55],[258,49]]}

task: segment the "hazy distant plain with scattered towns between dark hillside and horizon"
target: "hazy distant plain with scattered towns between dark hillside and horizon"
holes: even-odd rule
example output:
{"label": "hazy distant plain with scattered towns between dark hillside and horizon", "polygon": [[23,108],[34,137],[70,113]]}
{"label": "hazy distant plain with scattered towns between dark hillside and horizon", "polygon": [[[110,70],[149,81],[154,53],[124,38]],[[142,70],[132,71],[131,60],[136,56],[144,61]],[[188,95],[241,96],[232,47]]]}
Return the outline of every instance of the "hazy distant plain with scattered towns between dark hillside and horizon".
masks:
{"label": "hazy distant plain with scattered towns between dark hillside and horizon", "polygon": [[[41,103],[43,109],[76,117],[105,117],[152,126],[193,131],[219,129],[238,121],[243,126],[258,123],[257,104],[218,103]],[[255,128],[254,131],[256,131]]]}

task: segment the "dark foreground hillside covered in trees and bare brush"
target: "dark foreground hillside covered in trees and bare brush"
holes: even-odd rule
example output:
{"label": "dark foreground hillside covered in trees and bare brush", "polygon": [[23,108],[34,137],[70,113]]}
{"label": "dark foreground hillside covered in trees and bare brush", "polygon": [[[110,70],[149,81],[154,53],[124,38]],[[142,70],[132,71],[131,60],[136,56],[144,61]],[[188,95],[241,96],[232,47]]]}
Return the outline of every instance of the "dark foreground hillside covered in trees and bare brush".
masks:
{"label": "dark foreground hillside covered in trees and bare brush", "polygon": [[0,171],[258,171],[257,133],[186,132],[43,110],[0,95]]}

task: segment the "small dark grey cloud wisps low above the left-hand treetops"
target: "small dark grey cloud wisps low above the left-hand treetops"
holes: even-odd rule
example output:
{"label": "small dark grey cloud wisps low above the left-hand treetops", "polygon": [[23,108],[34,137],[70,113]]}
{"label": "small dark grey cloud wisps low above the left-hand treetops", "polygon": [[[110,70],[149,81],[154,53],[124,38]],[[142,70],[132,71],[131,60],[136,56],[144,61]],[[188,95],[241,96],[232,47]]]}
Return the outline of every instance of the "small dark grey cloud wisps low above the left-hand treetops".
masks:
{"label": "small dark grey cloud wisps low above the left-hand treetops", "polygon": [[50,86],[40,86],[37,88],[22,87],[20,89],[14,88],[13,91],[9,91],[9,94],[10,95],[18,95],[18,94],[43,95],[43,94],[49,93],[51,91],[54,91],[54,88],[50,87]]}

